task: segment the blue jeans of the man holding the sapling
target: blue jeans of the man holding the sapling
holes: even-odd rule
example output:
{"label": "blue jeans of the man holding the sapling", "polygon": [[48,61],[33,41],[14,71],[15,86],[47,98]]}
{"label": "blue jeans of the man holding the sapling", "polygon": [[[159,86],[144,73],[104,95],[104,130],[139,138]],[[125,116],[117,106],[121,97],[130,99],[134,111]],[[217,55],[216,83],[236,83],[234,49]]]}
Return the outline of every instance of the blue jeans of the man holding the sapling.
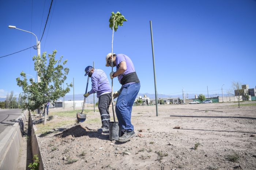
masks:
{"label": "blue jeans of the man holding the sapling", "polygon": [[134,131],[131,123],[132,105],[140,90],[140,83],[126,84],[122,87],[116,102],[116,116],[122,131]]}

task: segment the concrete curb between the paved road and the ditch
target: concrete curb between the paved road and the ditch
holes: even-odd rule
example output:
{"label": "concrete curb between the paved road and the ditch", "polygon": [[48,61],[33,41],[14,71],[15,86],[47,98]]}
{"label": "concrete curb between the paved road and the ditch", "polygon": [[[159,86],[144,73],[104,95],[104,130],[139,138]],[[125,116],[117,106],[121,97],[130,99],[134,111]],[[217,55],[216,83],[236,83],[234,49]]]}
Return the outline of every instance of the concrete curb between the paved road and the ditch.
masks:
{"label": "concrete curb between the paved road and the ditch", "polygon": [[22,113],[12,127],[6,128],[0,135],[0,169],[16,169],[19,148],[24,132],[27,110]]}

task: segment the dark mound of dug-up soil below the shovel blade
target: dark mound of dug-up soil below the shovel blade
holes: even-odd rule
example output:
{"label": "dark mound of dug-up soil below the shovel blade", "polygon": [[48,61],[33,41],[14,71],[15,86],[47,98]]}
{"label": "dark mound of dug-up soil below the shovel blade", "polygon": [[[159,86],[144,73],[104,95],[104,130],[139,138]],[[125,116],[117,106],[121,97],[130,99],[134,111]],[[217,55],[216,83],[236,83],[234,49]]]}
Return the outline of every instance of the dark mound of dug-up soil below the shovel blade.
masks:
{"label": "dark mound of dug-up soil below the shovel blade", "polygon": [[74,127],[71,127],[69,129],[63,131],[63,133],[60,134],[60,137],[65,138],[65,137],[68,137],[69,135],[71,135],[74,138],[82,137],[84,135],[87,135],[88,131],[89,131],[89,129],[87,127],[82,127],[81,125],[76,125]]}

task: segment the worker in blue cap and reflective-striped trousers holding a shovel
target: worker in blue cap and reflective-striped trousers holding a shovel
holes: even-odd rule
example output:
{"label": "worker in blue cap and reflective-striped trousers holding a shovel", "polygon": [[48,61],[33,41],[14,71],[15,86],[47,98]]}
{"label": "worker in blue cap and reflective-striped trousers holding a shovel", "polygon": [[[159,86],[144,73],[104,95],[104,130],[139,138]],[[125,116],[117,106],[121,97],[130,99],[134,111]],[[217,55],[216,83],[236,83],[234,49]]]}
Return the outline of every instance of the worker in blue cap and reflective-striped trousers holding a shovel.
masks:
{"label": "worker in blue cap and reflective-striped trousers holding a shovel", "polygon": [[91,90],[84,94],[85,97],[88,97],[90,94],[97,93],[97,98],[99,98],[99,113],[101,114],[101,123],[102,126],[99,131],[108,131],[109,130],[109,105],[111,100],[111,87],[109,85],[109,80],[103,70],[94,69],[91,66],[85,68],[86,74],[84,76],[89,76],[91,78]]}

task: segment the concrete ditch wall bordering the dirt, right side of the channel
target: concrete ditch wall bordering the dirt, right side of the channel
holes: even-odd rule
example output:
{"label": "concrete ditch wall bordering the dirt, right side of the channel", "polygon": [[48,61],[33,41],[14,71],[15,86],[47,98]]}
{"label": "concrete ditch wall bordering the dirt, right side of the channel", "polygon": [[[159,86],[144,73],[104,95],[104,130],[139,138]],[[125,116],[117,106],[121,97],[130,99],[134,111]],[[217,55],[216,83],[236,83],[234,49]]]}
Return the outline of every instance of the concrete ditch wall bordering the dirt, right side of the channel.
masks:
{"label": "concrete ditch wall bordering the dirt, right side of the channel", "polygon": [[31,127],[31,148],[32,148],[32,155],[38,155],[38,158],[40,160],[39,162],[39,170],[44,170],[44,162],[42,160],[40,148],[38,145],[37,135],[35,134],[35,129],[33,126],[33,119],[31,117],[31,113],[29,112],[30,117],[30,127]]}

